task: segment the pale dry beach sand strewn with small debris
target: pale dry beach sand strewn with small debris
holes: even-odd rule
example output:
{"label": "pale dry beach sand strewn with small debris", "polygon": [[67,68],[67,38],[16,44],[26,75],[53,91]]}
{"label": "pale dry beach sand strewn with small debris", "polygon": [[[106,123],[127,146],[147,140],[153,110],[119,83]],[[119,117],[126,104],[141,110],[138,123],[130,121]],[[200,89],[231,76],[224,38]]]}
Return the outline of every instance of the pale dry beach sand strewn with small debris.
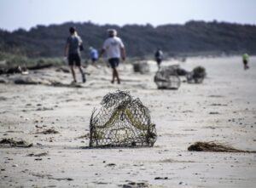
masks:
{"label": "pale dry beach sand strewn with small debris", "polygon": [[[256,151],[256,57],[248,71],[240,57],[164,62],[188,70],[206,67],[204,83],[182,83],[178,90],[156,89],[156,66],[149,63],[147,75],[120,65],[120,85],[110,83],[110,69],[93,66],[82,88],[0,83],[0,138],[33,144],[1,146],[0,187],[255,187],[255,153],[187,148],[196,141],[218,141]],[[20,75],[0,80],[15,77]],[[69,73],[55,68],[22,77],[71,81]],[[118,88],[129,90],[151,111],[158,134],[154,147],[81,148],[89,144],[79,137],[89,133],[91,111]],[[36,134],[48,128],[59,134]]]}

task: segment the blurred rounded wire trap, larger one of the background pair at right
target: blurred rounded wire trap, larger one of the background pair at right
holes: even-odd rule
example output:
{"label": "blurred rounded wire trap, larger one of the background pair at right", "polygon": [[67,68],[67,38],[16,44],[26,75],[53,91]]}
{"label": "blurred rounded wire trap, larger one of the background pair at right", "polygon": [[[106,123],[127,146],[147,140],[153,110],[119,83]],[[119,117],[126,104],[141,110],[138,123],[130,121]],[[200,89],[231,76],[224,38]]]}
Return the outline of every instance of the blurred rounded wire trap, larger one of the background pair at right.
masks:
{"label": "blurred rounded wire trap, larger one of the background pair at right", "polygon": [[159,89],[178,89],[181,80],[177,75],[176,66],[162,66],[155,73],[154,83]]}

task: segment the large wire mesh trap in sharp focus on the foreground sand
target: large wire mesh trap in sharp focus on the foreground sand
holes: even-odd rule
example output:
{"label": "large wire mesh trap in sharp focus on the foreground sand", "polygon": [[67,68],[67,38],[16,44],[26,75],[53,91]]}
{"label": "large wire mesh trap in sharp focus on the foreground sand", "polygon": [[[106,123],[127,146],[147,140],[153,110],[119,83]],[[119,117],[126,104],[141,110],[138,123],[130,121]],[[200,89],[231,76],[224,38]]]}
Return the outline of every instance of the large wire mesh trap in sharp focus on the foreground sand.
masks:
{"label": "large wire mesh trap in sharp focus on the foreground sand", "polygon": [[155,125],[141,100],[118,90],[105,95],[101,105],[90,117],[90,147],[154,145]]}

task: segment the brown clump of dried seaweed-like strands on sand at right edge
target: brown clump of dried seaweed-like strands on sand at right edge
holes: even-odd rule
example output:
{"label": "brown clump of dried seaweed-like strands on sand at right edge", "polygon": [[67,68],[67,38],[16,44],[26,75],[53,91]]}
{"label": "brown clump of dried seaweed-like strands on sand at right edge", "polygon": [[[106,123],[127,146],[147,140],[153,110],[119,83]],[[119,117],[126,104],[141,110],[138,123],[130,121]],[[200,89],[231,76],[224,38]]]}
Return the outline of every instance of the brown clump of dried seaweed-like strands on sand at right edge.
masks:
{"label": "brown clump of dried seaweed-like strands on sand at right edge", "polygon": [[189,151],[212,151],[212,152],[246,152],[246,153],[256,153],[256,151],[244,151],[238,150],[230,145],[224,145],[214,142],[195,142],[195,144],[190,145]]}

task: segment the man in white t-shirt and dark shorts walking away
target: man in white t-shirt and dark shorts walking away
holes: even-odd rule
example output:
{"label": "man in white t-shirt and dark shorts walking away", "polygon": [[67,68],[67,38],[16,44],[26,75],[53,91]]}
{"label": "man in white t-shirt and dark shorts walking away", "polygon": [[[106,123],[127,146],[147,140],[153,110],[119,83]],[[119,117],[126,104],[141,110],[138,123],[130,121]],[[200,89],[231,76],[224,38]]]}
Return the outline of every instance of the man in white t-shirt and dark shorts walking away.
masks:
{"label": "man in white t-shirt and dark shorts walking away", "polygon": [[115,78],[117,79],[117,82],[120,83],[119,79],[119,72],[117,70],[117,67],[119,66],[119,60],[122,58],[122,60],[125,60],[125,45],[122,42],[121,38],[116,37],[117,31],[111,29],[108,30],[108,39],[103,43],[102,51],[100,53],[100,56],[106,52],[108,56],[108,63],[113,69],[113,78],[111,83],[114,83]]}

